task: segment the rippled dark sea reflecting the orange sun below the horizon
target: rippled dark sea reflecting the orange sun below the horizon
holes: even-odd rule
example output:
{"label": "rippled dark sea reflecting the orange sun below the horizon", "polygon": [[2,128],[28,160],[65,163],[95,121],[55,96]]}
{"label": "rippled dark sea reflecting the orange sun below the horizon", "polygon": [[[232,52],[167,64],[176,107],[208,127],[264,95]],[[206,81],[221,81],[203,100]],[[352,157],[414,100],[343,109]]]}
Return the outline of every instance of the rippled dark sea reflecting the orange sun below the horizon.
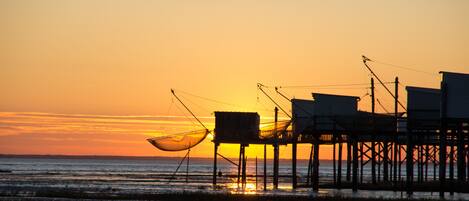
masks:
{"label": "rippled dark sea reflecting the orange sun below the horizon", "polygon": [[[232,159],[237,163],[235,159]],[[218,158],[217,185],[212,184],[213,160],[209,158],[109,157],[109,156],[0,156],[0,196],[32,196],[38,190],[63,190],[108,194],[164,194],[178,192],[340,196],[358,198],[408,198],[401,191],[372,191],[310,187],[292,189],[291,162],[281,160],[279,187],[273,190],[272,160],[267,160],[264,190],[262,158],[247,162],[247,183],[238,185],[238,167]],[[299,160],[298,183],[306,184],[308,161]],[[345,167],[342,176],[345,181]],[[430,170],[431,172],[432,170]],[[256,174],[257,173],[257,174]],[[257,175],[257,177],[256,177]],[[320,181],[333,181],[331,161],[321,161]],[[365,180],[369,178],[364,168]],[[20,192],[18,194],[18,192]],[[439,199],[438,192],[414,192],[412,198]],[[469,200],[469,194],[447,195],[448,200]]]}

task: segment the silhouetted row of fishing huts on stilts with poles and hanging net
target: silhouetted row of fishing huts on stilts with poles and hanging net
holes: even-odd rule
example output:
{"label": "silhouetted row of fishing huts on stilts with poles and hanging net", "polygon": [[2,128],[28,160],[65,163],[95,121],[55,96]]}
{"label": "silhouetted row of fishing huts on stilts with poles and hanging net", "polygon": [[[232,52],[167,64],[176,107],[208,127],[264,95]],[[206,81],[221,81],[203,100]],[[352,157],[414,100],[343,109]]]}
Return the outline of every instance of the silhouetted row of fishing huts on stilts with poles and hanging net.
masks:
{"label": "silhouetted row of fishing huts on stilts with poles and hanging net", "polygon": [[[439,89],[408,86],[405,105],[399,99],[401,84],[398,77],[394,82],[383,82],[370,66],[373,61],[365,56],[362,58],[372,75],[369,112],[358,110],[360,97],[357,96],[312,93],[312,99],[290,99],[280,91],[280,87],[275,87],[276,93],[290,102],[289,113],[264,90],[266,86],[262,84],[257,85],[259,91],[275,104],[275,118],[270,125],[261,129],[260,116],[256,112],[215,112],[213,185],[217,185],[217,159],[221,157],[237,166],[236,181],[244,188],[248,176],[245,149],[249,145],[264,145],[261,176],[264,190],[267,190],[269,182],[266,153],[272,146],[272,189],[278,188],[279,177],[284,176],[289,178],[292,188],[311,188],[313,191],[320,187],[405,191],[408,195],[414,191],[435,191],[441,197],[445,193],[468,193],[469,74],[440,72],[442,81]],[[375,80],[393,98],[393,112],[376,112],[376,103],[382,105],[375,96]],[[387,84],[394,84],[394,90]],[[174,91],[173,95],[176,96]],[[289,119],[279,121],[279,111]],[[198,122],[205,130],[177,150],[190,149],[211,132]],[[165,150],[164,140],[149,141]],[[224,143],[239,145],[237,163],[219,153],[218,148]],[[311,145],[306,175],[297,172],[299,144]],[[279,146],[282,145],[291,145],[290,175],[279,175]],[[332,146],[332,182],[320,179],[320,147],[324,145]],[[257,182],[257,166],[255,177]]]}

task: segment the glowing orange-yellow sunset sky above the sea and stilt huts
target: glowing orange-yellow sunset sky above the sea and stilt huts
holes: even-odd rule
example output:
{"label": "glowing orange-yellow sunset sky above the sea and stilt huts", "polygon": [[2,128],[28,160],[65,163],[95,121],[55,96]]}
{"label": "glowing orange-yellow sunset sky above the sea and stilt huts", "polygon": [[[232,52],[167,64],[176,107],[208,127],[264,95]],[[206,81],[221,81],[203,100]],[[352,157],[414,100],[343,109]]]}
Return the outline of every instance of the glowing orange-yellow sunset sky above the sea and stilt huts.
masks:
{"label": "glowing orange-yellow sunset sky above the sea and stilt huts", "polygon": [[[399,77],[405,103],[405,86],[469,73],[467,10],[463,0],[0,0],[0,153],[184,156],[145,140],[200,129],[171,88],[210,128],[213,111],[271,121],[257,83],[286,110],[273,86],[295,98],[359,96],[369,111],[361,55],[385,82]],[[376,93],[378,112],[393,111],[385,90]],[[213,154],[209,139],[194,149]]]}

